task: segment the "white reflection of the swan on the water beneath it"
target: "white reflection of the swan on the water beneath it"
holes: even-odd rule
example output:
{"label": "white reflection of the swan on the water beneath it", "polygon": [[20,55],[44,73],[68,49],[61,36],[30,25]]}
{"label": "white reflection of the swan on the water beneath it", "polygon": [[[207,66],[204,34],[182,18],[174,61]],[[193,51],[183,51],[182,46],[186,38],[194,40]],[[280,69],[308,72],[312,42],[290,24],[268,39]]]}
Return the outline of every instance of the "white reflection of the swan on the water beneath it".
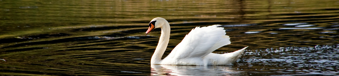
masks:
{"label": "white reflection of the swan on the water beneath it", "polygon": [[151,64],[151,75],[188,75],[188,76],[216,76],[239,75],[241,71],[231,70],[232,65],[156,65]]}

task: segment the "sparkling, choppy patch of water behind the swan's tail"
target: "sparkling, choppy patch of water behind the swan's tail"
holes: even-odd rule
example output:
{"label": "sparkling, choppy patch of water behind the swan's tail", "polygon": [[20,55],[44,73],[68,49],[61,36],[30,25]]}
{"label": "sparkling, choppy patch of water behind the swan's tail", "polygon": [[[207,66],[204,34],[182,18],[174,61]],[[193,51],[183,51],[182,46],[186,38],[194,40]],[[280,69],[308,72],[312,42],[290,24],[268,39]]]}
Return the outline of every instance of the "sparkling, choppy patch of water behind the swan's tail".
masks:
{"label": "sparkling, choppy patch of water behind the swan's tail", "polygon": [[[300,74],[336,75],[339,71],[339,45],[316,45],[315,47],[286,47],[266,50],[246,50],[238,66],[280,67],[282,72]],[[248,59],[246,59],[248,58]],[[246,62],[245,64],[242,63]],[[324,70],[326,69],[326,70]],[[277,70],[277,69],[270,69]],[[298,74],[291,74],[298,75]]]}

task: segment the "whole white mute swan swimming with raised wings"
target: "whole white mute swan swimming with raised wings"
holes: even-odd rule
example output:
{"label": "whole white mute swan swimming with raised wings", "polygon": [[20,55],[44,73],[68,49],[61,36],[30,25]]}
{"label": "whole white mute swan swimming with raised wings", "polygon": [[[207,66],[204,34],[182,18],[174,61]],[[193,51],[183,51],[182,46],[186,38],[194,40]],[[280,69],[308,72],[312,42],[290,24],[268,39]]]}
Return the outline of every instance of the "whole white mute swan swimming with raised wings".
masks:
{"label": "whole white mute swan swimming with raised wings", "polygon": [[164,18],[157,17],[151,20],[148,25],[146,34],[155,28],[161,28],[159,43],[151,58],[151,64],[232,65],[248,47],[226,54],[211,53],[224,45],[231,44],[230,37],[225,35],[223,27],[217,27],[220,25],[196,27],[184,37],[167,57],[161,60],[169,41],[171,31],[169,23]]}

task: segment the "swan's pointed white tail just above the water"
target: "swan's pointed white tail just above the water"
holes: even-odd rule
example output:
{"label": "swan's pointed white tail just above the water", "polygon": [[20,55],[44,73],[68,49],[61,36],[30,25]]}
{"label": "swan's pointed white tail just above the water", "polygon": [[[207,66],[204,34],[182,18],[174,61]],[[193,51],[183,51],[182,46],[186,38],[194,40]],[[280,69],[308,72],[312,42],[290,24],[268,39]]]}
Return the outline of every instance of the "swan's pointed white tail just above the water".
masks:
{"label": "swan's pointed white tail just above the water", "polygon": [[[248,47],[248,46],[247,46]],[[222,54],[221,56],[224,56],[224,57],[229,57],[227,59],[227,62],[231,62],[231,63],[234,63],[235,61],[237,61],[242,55],[242,53],[244,53],[244,50],[247,48],[243,48],[241,50],[238,50],[238,51],[235,51],[235,52],[232,52],[232,53],[226,53],[226,54]]]}

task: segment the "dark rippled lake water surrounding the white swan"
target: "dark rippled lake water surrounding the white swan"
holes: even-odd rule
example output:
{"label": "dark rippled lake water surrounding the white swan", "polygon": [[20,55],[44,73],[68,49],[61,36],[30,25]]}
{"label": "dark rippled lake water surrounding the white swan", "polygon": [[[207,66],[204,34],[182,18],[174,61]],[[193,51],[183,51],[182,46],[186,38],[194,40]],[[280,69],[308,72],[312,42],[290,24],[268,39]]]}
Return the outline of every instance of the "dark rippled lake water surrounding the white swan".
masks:
{"label": "dark rippled lake water surrounding the white swan", "polygon": [[[164,56],[196,26],[221,24],[250,46],[234,65],[151,65],[162,17]],[[339,75],[338,0],[0,0],[0,75]]]}

